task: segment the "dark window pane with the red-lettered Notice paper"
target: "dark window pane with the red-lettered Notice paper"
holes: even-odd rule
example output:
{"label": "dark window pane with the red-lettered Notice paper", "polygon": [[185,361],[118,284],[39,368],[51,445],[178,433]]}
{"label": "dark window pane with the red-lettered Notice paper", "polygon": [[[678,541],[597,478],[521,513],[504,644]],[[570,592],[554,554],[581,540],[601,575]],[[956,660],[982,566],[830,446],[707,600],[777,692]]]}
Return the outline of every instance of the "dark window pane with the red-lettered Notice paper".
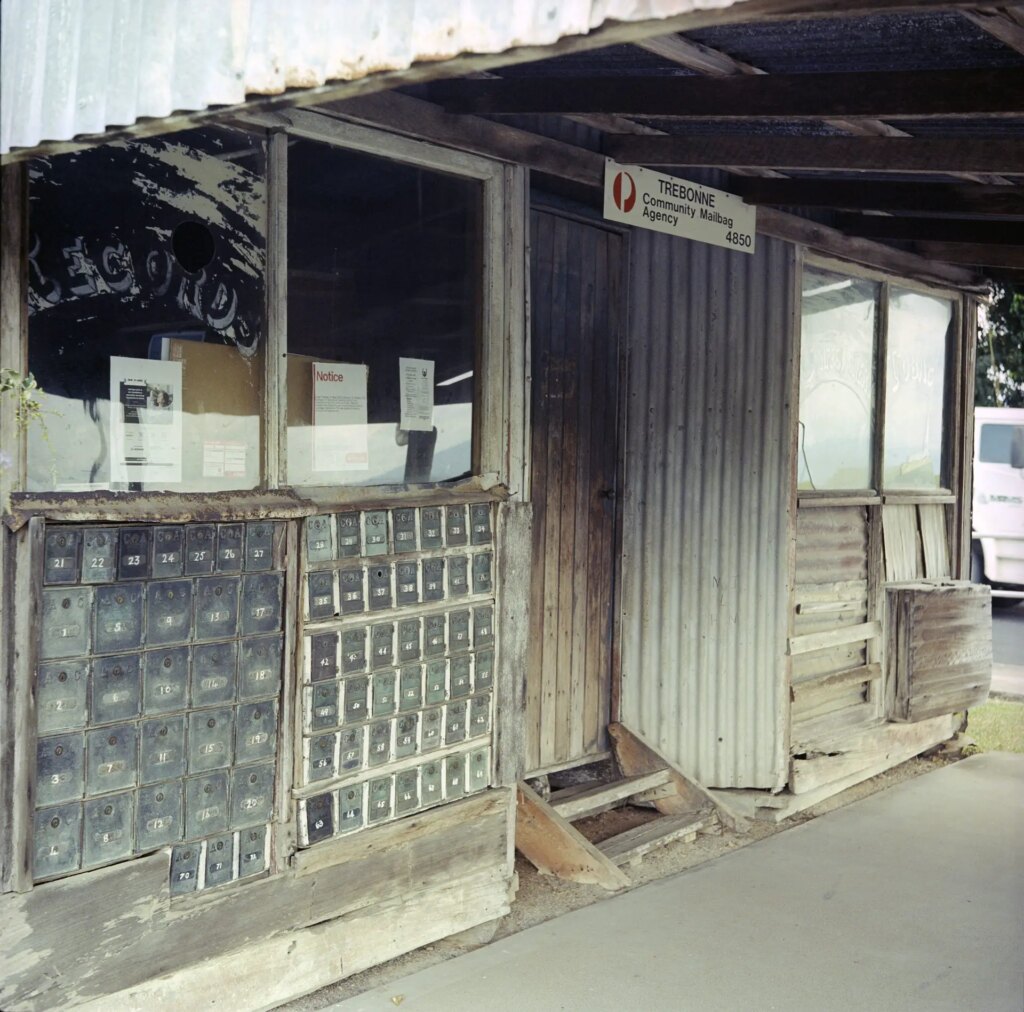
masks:
{"label": "dark window pane with the red-lettered Notice paper", "polygon": [[291,484],[472,473],[481,197],[473,180],[292,142]]}

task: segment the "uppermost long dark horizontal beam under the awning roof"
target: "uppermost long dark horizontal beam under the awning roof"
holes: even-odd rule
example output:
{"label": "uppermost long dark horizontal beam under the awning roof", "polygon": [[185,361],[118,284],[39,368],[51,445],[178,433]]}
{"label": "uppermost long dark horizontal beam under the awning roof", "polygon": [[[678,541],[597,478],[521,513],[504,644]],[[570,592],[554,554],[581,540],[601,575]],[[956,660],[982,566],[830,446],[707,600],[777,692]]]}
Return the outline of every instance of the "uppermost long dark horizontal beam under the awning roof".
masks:
{"label": "uppermost long dark horizontal beam under the awning roof", "polygon": [[1013,70],[700,77],[515,78],[439,81],[450,112],[615,113],[697,119],[1013,116],[1024,75]]}

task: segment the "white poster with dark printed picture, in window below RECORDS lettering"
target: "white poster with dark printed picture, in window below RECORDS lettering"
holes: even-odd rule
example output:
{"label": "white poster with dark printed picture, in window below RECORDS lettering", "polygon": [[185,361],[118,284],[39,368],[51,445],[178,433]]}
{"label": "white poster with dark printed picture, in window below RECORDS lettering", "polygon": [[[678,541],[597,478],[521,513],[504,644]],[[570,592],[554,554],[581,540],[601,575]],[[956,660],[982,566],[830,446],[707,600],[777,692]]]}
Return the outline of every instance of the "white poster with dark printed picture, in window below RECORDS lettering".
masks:
{"label": "white poster with dark printed picture, in window below RECORDS lettering", "polygon": [[111,356],[111,481],[181,480],[181,363]]}

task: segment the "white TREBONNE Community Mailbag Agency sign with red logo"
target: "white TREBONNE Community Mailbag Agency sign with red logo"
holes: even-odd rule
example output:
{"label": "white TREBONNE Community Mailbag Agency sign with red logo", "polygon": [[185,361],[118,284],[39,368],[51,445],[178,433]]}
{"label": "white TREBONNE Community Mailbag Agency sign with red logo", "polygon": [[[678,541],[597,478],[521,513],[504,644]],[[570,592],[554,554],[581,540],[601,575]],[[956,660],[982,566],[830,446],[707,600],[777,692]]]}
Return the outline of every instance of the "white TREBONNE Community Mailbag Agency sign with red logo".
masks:
{"label": "white TREBONNE Community Mailbag Agency sign with red logo", "polygon": [[753,253],[757,209],[734,194],[638,165],[604,163],[604,216],[638,228]]}

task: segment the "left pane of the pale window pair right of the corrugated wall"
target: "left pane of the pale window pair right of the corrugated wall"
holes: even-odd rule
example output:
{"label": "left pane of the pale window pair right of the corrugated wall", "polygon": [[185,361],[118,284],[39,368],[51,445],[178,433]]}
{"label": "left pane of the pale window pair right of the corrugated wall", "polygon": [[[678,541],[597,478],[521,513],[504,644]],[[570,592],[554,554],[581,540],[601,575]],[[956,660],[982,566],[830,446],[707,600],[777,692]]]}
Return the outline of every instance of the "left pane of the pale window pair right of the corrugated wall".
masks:
{"label": "left pane of the pale window pair right of the corrugated wall", "polygon": [[804,270],[801,489],[869,489],[879,286]]}

